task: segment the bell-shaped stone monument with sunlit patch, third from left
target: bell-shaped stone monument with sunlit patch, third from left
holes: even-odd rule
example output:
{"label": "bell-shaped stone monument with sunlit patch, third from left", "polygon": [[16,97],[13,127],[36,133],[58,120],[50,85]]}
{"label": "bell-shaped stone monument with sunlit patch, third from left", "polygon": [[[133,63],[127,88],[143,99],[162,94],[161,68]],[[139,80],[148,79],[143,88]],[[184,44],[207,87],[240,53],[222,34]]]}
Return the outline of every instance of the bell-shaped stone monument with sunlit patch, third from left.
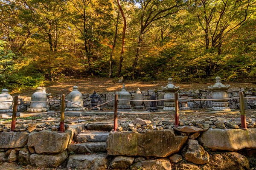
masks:
{"label": "bell-shaped stone monument with sunlit patch, third from left", "polygon": [[[65,111],[84,111],[85,108],[82,108],[83,106],[83,95],[80,91],[78,91],[77,86],[73,86],[73,91],[70,92],[70,94],[67,95],[67,100],[72,102],[67,102],[67,108],[65,108]],[[75,103],[75,104],[73,104]]]}

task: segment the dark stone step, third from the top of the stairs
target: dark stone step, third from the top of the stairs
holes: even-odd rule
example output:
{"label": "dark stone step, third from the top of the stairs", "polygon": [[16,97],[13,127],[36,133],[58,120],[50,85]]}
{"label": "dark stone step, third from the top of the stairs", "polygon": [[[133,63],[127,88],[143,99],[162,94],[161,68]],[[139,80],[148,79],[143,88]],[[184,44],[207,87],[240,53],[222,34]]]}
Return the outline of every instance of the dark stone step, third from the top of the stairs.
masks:
{"label": "dark stone step, third from the top of the stairs", "polygon": [[69,154],[79,153],[105,153],[107,144],[106,142],[85,142],[77,144],[69,144],[67,151]]}

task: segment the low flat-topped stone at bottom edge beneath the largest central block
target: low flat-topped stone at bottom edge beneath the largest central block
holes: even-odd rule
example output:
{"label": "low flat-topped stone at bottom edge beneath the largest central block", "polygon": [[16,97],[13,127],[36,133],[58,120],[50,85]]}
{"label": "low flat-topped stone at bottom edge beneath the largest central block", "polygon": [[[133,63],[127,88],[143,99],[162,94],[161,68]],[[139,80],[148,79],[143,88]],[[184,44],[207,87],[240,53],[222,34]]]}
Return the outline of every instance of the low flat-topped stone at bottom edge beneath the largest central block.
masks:
{"label": "low flat-topped stone at bottom edge beneath the largest central block", "polygon": [[147,159],[132,164],[131,170],[172,170],[172,164],[166,158],[162,159]]}

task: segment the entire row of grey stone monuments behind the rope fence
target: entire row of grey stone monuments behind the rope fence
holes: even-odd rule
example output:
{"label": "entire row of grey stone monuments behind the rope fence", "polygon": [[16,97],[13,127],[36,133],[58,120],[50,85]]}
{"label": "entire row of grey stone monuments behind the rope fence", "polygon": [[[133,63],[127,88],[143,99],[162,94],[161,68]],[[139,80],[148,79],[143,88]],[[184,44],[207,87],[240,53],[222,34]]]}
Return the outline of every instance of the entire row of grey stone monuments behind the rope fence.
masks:
{"label": "entire row of grey stone monuments behind the rope fence", "polygon": [[[221,78],[216,77],[215,78],[216,83],[213,86],[208,86],[209,90],[212,91],[212,99],[213,99],[213,106],[209,111],[230,111],[230,108],[228,108],[228,102],[227,99],[227,89],[229,89],[230,85],[223,85],[221,83]],[[173,111],[175,110],[175,101],[174,96],[175,93],[179,90],[178,86],[173,85],[172,78],[168,79],[168,84],[166,87],[162,87],[162,90],[164,92],[163,98],[165,99],[163,104],[164,108],[163,111]],[[12,112],[12,96],[8,93],[9,91],[7,89],[3,89],[2,93],[0,94],[0,113],[9,113],[11,115]],[[125,90],[125,84],[123,84],[122,90],[117,92],[118,99],[125,99],[125,100],[119,100],[118,102],[118,110],[119,111],[131,111],[131,94]],[[182,107],[181,110],[190,110],[188,107],[189,96],[186,93],[183,93],[180,95],[182,100]],[[99,94],[96,94],[94,91],[93,95],[90,96],[91,98],[91,105],[93,107],[92,110],[99,110],[100,107],[97,107],[101,102],[101,98]],[[70,94],[67,95],[67,107],[65,108],[65,111],[67,112],[74,112],[74,111],[85,111],[86,108],[83,107],[83,96],[81,92],[78,91],[78,87],[74,86],[73,91],[70,92]],[[156,96],[153,94],[150,97],[150,100],[155,100]],[[214,100],[215,99],[215,100]],[[223,100],[218,100],[223,99]],[[142,110],[143,102],[146,102],[146,100],[143,100],[143,96],[141,94],[140,88],[137,89],[135,96],[134,96],[134,109],[135,110]],[[47,99],[47,93],[45,91],[45,88],[38,87],[36,92],[32,94],[31,96],[31,103],[30,108],[27,109],[28,113],[47,113],[49,111],[49,105],[48,105],[48,99]],[[157,111],[157,102],[151,101],[150,107],[148,107],[148,111]]]}

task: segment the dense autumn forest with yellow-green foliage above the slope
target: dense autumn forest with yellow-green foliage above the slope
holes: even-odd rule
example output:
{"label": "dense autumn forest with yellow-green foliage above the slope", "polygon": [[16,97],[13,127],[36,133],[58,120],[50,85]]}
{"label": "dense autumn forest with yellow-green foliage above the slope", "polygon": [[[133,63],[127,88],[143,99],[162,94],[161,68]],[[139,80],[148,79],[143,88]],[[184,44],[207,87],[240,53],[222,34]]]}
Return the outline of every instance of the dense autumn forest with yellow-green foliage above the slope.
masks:
{"label": "dense autumn forest with yellow-green foliage above the slope", "polygon": [[0,87],[256,79],[256,0],[0,0]]}

